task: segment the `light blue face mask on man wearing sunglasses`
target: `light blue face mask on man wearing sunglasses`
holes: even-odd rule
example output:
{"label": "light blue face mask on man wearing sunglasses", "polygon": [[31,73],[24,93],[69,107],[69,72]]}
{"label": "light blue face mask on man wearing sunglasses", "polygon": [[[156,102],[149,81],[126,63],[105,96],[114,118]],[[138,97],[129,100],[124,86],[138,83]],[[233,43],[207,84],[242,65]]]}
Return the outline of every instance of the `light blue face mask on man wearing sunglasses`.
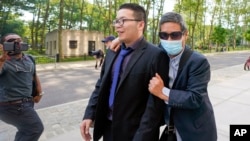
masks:
{"label": "light blue face mask on man wearing sunglasses", "polygon": [[160,39],[160,42],[169,55],[177,55],[182,51],[182,40],[168,41]]}

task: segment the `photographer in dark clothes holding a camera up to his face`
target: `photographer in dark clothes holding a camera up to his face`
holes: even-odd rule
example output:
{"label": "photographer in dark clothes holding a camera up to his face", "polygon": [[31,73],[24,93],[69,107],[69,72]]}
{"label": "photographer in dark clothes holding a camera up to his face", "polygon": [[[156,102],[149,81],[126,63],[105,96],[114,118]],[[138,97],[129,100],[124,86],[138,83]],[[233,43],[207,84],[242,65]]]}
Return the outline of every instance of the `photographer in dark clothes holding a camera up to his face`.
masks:
{"label": "photographer in dark clothes holding a camera up to his face", "polygon": [[[34,110],[32,86],[42,92],[35,64],[22,51],[28,46],[17,34],[7,34],[0,41],[0,120],[17,128],[15,141],[38,141],[44,127]],[[35,74],[35,75],[34,75]]]}

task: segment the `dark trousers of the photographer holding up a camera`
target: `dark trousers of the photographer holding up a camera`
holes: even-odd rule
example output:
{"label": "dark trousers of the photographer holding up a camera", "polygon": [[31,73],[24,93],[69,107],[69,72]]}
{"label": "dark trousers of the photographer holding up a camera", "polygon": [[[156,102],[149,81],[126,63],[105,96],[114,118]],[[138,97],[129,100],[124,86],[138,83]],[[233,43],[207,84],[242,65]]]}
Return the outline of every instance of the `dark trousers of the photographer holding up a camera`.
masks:
{"label": "dark trousers of the photographer holding up a camera", "polygon": [[0,105],[0,120],[17,128],[15,141],[38,141],[44,127],[33,102]]}

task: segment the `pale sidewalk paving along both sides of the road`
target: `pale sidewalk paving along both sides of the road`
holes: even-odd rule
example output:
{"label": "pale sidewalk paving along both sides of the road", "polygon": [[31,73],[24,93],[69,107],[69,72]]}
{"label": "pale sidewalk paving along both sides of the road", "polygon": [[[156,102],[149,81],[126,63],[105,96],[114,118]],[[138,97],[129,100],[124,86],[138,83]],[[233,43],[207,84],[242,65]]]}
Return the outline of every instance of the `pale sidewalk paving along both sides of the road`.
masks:
{"label": "pale sidewalk paving along both sides of the road", "polygon": [[[94,66],[94,61],[37,65],[38,71]],[[212,71],[208,92],[214,106],[218,141],[229,140],[230,124],[250,124],[250,71],[243,64]],[[88,99],[37,110],[45,131],[39,141],[82,141],[79,123]],[[1,123],[0,141],[13,141],[16,129]]]}

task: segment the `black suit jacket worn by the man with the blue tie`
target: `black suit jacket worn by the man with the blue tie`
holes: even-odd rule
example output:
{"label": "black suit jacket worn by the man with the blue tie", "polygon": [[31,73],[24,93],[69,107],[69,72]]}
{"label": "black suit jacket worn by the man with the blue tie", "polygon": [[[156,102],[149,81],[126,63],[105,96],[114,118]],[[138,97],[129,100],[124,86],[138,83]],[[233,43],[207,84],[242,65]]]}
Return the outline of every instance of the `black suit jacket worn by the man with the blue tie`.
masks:
{"label": "black suit jacket worn by the man with the blue tie", "polygon": [[[148,84],[156,72],[163,79],[168,79],[168,58],[160,48],[144,39],[138,46],[117,86],[112,120],[113,141],[155,141],[159,138],[164,102],[150,94]],[[100,79],[85,111],[84,119],[95,121],[95,141],[105,130],[111,71],[117,54],[119,52],[107,52]]]}

